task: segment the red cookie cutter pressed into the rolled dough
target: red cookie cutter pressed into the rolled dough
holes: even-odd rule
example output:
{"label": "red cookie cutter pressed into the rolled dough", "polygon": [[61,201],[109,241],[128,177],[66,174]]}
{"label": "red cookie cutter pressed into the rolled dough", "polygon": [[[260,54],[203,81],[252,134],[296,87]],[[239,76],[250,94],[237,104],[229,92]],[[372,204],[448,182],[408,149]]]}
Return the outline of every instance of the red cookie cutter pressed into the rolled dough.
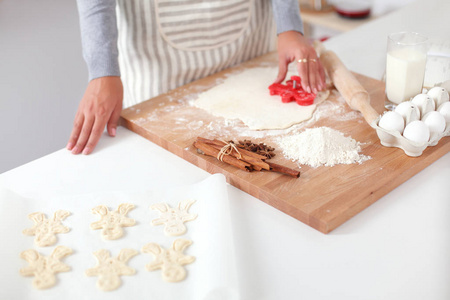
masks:
{"label": "red cookie cutter pressed into the rolled dough", "polygon": [[298,105],[308,106],[314,104],[316,98],[316,94],[305,92],[299,76],[291,76],[291,79],[286,81],[286,85],[271,84],[269,90],[272,96],[280,95],[283,103],[295,101]]}

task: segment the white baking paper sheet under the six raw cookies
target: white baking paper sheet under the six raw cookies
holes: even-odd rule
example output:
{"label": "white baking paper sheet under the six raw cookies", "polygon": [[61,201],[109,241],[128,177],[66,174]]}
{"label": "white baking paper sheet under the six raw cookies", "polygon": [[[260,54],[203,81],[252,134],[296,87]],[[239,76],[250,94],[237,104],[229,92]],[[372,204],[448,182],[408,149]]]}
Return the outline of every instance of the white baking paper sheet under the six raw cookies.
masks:
{"label": "white baking paper sheet under the six raw cookies", "polygon": [[[197,213],[197,219],[186,222],[187,232],[178,237],[163,233],[163,225],[152,226],[151,220],[159,212],[150,210],[154,203],[167,202],[172,207],[184,199],[195,199],[189,212]],[[99,220],[91,209],[106,205],[115,210],[120,203],[132,203],[135,208],[128,217],[136,225],[125,227],[124,237],[104,241],[100,230],[91,230],[90,223]],[[25,236],[22,230],[33,222],[27,215],[40,211],[52,217],[58,209],[71,212],[63,224],[71,228],[66,234],[58,234],[58,241],[49,247],[34,245],[34,236]],[[237,299],[236,266],[227,186],[221,174],[189,186],[171,190],[142,192],[105,192],[59,198],[27,199],[0,186],[0,299]],[[196,261],[185,266],[187,277],[178,283],[162,280],[161,270],[149,272],[145,265],[153,260],[148,253],[141,253],[143,245],[156,242],[164,248],[177,238],[187,238],[193,244],[185,250]],[[57,284],[47,290],[32,287],[33,277],[22,277],[19,269],[28,263],[19,257],[27,249],[35,249],[49,255],[57,245],[68,246],[73,254],[62,259],[72,270],[57,274]],[[117,256],[120,249],[132,248],[140,252],[128,265],[136,270],[133,276],[121,276],[122,285],[111,292],[96,287],[97,277],[87,277],[84,272],[96,265],[92,252],[107,249]]]}

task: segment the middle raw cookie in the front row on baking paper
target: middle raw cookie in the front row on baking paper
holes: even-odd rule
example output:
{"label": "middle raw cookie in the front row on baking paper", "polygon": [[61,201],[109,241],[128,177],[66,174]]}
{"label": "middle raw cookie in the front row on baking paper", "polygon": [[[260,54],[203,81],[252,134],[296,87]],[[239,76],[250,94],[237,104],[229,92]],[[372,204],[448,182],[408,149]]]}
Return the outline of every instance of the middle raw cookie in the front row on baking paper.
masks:
{"label": "middle raw cookie in the front row on baking paper", "polygon": [[108,250],[94,252],[97,265],[86,270],[86,276],[98,276],[97,287],[102,291],[112,291],[120,284],[121,275],[133,275],[136,270],[127,266],[128,260],[139,252],[134,249],[122,249],[116,258],[111,257]]}

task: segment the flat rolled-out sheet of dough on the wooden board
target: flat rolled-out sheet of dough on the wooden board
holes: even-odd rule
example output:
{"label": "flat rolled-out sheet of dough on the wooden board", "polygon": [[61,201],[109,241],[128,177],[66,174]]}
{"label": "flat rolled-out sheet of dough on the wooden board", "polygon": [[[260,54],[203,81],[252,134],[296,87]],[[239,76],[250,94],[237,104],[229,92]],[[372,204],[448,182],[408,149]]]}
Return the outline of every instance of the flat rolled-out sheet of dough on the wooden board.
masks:
{"label": "flat rolled-out sheet of dough on the wooden board", "polygon": [[201,93],[194,106],[216,117],[240,119],[252,130],[284,129],[310,119],[330,91],[319,92],[313,105],[282,103],[280,97],[271,96],[268,89],[277,72],[276,68],[252,68],[233,74]]}

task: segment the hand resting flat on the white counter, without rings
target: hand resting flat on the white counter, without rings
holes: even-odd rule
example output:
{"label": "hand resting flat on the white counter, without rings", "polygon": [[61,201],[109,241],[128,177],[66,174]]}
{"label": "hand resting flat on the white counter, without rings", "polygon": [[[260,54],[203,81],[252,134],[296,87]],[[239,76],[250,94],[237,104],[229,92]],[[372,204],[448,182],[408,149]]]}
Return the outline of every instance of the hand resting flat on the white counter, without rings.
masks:
{"label": "hand resting flat on the white counter, without rings", "polygon": [[73,154],[91,153],[105,126],[108,134],[115,136],[122,100],[123,86],[120,77],[107,76],[91,80],[78,106],[66,148]]}

